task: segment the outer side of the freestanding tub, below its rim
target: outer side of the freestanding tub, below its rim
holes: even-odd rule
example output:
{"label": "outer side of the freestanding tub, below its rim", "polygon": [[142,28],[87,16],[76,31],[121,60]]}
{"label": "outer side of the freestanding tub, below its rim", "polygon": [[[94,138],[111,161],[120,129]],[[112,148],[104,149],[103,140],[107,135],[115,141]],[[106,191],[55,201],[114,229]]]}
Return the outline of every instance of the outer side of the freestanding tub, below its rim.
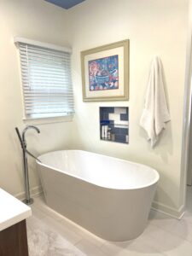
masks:
{"label": "outer side of the freestanding tub, below its rim", "polygon": [[[41,168],[47,205],[107,241],[128,241],[143,233],[155,184],[144,189],[105,189]],[[138,203],[139,202],[139,203]]]}

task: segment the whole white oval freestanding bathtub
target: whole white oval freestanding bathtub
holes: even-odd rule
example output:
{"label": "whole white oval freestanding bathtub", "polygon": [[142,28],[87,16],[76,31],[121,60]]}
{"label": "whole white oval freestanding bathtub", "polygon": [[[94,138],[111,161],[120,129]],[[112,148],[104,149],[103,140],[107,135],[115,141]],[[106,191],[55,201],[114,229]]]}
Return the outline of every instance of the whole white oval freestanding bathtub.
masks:
{"label": "whole white oval freestanding bathtub", "polygon": [[154,169],[81,150],[39,159],[45,201],[56,212],[108,241],[143,232],[159,180]]}

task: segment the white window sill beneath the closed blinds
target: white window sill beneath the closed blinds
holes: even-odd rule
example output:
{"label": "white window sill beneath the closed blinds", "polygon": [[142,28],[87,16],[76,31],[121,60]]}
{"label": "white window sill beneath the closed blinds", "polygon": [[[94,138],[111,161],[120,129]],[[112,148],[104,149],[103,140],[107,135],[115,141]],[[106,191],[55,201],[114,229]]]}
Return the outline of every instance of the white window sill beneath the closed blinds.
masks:
{"label": "white window sill beneath the closed blinds", "polygon": [[40,118],[23,118],[24,124],[28,125],[45,125],[52,123],[61,123],[61,122],[72,122],[73,114],[55,116],[55,117],[40,117]]}

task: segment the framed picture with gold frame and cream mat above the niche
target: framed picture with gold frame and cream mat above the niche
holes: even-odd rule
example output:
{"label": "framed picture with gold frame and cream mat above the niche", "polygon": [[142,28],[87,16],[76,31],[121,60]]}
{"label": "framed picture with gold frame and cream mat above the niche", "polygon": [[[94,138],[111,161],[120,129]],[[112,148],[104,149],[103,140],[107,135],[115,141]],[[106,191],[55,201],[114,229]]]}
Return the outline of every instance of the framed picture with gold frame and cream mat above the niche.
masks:
{"label": "framed picture with gold frame and cream mat above the niche", "polygon": [[84,102],[125,101],[129,92],[129,40],[81,52]]}

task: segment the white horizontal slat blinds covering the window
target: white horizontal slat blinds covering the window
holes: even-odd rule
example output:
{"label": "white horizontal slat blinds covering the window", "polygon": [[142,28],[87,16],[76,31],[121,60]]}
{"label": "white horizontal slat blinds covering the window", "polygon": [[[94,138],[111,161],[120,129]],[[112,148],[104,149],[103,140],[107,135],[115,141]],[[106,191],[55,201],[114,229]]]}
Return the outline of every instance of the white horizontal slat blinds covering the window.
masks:
{"label": "white horizontal slat blinds covering the window", "polygon": [[72,114],[71,55],[19,43],[26,118]]}

